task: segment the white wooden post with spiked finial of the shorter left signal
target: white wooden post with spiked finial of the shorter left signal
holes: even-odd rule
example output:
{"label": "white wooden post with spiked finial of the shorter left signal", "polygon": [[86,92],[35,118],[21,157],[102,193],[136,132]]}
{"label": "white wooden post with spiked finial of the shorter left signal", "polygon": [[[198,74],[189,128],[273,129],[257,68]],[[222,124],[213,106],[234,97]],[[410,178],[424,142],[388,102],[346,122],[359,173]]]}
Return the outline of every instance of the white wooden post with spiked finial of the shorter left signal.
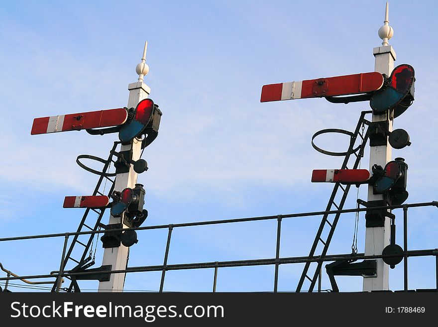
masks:
{"label": "white wooden post with spiked finial of the shorter left signal", "polygon": [[[150,88],[143,83],[143,77],[149,72],[149,67],[146,64],[147,41],[144,44],[143,57],[137,65],[135,71],[139,75],[138,82],[128,85],[129,98],[127,108],[135,108],[137,104],[146,99],[150,94]],[[141,140],[134,138],[130,144],[121,145],[120,151],[132,149],[132,160],[140,159]],[[129,172],[117,174],[115,177],[114,190],[122,191],[125,188],[134,188],[137,183],[138,174],[134,171],[133,166],[130,166]],[[109,216],[109,224],[122,223],[121,217]],[[127,226],[123,224],[123,228]],[[127,266],[129,248],[120,244],[119,247],[106,248],[102,265],[111,265],[111,270],[124,270]],[[122,292],[124,286],[125,273],[111,274],[108,282],[99,282],[99,292]]]}

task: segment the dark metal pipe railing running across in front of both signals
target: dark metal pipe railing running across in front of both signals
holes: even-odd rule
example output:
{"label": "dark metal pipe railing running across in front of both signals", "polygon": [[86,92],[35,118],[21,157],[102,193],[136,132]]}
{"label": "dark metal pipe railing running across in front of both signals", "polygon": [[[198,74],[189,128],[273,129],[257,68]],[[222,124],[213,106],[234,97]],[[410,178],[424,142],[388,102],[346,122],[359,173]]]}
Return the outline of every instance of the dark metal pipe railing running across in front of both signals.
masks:
{"label": "dark metal pipe railing running across in front of both signals", "polygon": [[[67,232],[67,233],[55,233],[55,234],[44,234],[44,235],[30,235],[30,236],[16,236],[16,237],[5,237],[0,238],[0,242],[14,241],[14,240],[25,240],[25,239],[36,239],[36,238],[48,238],[48,237],[65,237],[64,247],[61,256],[60,270],[52,271],[51,274],[47,275],[29,275],[29,276],[13,276],[13,277],[2,277],[0,281],[9,280],[23,280],[23,279],[39,279],[39,278],[57,278],[56,291],[66,291],[61,288],[61,279],[66,278],[80,278],[80,276],[94,275],[99,279],[99,276],[109,276],[109,274],[117,273],[132,273],[132,272],[148,272],[148,271],[161,271],[161,282],[159,291],[163,292],[166,271],[170,270],[185,270],[185,269],[205,269],[214,268],[214,278],[213,278],[213,292],[216,292],[218,269],[222,267],[244,267],[244,266],[261,266],[261,265],[275,265],[274,272],[274,289],[273,292],[278,291],[278,271],[281,264],[293,264],[293,263],[309,263],[309,262],[329,262],[335,260],[369,260],[369,259],[380,259],[386,257],[403,257],[404,261],[404,289],[403,291],[408,292],[408,258],[418,257],[418,256],[435,256],[436,257],[436,287],[433,289],[427,289],[427,291],[437,291],[438,292],[438,249],[425,249],[425,250],[408,250],[408,209],[418,208],[418,207],[429,207],[434,206],[438,208],[438,202],[426,202],[426,203],[414,203],[414,204],[404,204],[398,206],[385,206],[385,207],[373,207],[373,210],[385,209],[403,209],[403,253],[393,254],[393,255],[364,255],[364,253],[350,253],[350,254],[334,254],[326,256],[300,256],[300,257],[283,257],[280,255],[280,238],[281,238],[281,222],[284,218],[301,218],[301,217],[311,217],[311,216],[322,216],[327,214],[346,214],[346,213],[356,213],[364,212],[367,208],[355,208],[346,210],[336,210],[336,211],[320,211],[320,212],[307,212],[298,214],[287,214],[287,215],[274,215],[274,216],[264,216],[264,217],[252,217],[252,218],[234,218],[234,219],[224,219],[224,220],[210,220],[210,221],[199,221],[199,222],[188,222],[188,223],[176,223],[176,224],[166,224],[166,225],[154,225],[154,226],[142,226],[135,228],[123,228],[123,229],[111,229],[111,230],[95,230],[95,231],[84,231],[84,232]],[[175,228],[180,227],[190,227],[190,226],[200,226],[200,225],[214,225],[214,224],[225,224],[225,223],[235,223],[235,222],[249,222],[249,221],[259,221],[259,220],[269,220],[277,219],[277,238],[276,238],[276,256],[275,258],[268,259],[250,259],[250,260],[238,260],[238,261],[215,261],[215,262],[198,262],[198,263],[183,263],[183,264],[168,264],[167,259],[170,251],[170,242],[172,238],[172,231]],[[166,250],[164,254],[163,265],[153,265],[153,266],[139,266],[139,267],[126,267],[122,270],[96,270],[82,271],[82,272],[70,272],[64,271],[64,258],[67,249],[68,239],[70,236],[83,235],[83,234],[99,234],[99,233],[113,233],[117,231],[126,230],[152,230],[152,229],[168,229]],[[90,278],[84,278],[90,279]],[[319,282],[318,291],[321,292],[321,279]],[[420,291],[420,290],[419,290]]]}

